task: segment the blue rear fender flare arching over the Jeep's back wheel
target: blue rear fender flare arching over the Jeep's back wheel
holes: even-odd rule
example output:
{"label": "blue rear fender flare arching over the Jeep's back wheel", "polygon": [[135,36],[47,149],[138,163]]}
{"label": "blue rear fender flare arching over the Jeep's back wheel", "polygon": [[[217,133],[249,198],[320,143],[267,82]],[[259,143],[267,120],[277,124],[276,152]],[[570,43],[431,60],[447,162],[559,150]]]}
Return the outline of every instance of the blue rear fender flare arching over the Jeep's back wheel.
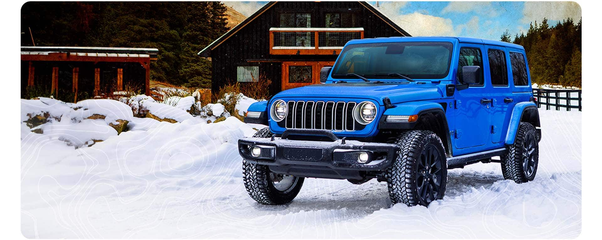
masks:
{"label": "blue rear fender flare arching over the Jeep's back wheel", "polygon": [[510,116],[510,123],[508,125],[508,131],[506,133],[506,145],[514,144],[517,138],[518,125],[521,121],[528,119],[530,123],[535,127],[541,127],[539,124],[539,112],[537,105],[530,101],[517,103],[512,109],[512,115]]}

